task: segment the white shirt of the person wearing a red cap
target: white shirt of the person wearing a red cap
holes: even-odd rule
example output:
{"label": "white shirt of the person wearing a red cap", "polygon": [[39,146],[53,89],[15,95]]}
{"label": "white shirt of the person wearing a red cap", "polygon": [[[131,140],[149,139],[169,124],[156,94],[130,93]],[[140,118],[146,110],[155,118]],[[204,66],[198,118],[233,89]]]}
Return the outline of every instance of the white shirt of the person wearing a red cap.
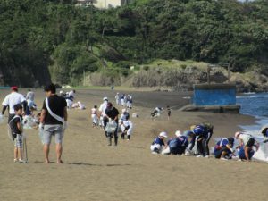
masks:
{"label": "white shirt of the person wearing a red cap", "polygon": [[25,97],[18,92],[12,92],[11,94],[5,96],[2,105],[9,105],[9,113],[14,114],[14,105],[21,104],[23,101],[26,101]]}

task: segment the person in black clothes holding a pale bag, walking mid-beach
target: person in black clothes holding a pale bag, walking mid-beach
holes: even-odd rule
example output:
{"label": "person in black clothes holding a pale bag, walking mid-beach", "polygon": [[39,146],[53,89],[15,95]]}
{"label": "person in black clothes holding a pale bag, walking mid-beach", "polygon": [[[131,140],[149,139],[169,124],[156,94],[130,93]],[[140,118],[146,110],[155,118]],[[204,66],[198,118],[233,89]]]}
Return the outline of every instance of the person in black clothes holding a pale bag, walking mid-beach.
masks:
{"label": "person in black clothes holding a pale bag, walking mid-beach", "polygon": [[116,123],[116,129],[114,130],[113,133],[107,132],[107,139],[108,139],[108,146],[112,145],[112,138],[114,136],[114,146],[117,146],[118,143],[118,135],[117,135],[117,130],[118,130],[118,110],[113,107],[113,104],[111,102],[107,103],[107,107],[105,109],[105,114],[109,118],[109,123]]}

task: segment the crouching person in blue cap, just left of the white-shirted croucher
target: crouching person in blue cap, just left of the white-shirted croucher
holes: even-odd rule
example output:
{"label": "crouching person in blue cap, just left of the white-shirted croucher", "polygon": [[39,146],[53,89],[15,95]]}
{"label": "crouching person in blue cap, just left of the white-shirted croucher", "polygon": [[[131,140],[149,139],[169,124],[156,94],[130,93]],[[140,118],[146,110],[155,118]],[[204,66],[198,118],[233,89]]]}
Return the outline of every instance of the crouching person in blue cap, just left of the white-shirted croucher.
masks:
{"label": "crouching person in blue cap, just left of the white-shirted croucher", "polygon": [[222,138],[219,140],[214,147],[214,156],[215,158],[231,159],[232,149],[234,143],[234,138]]}

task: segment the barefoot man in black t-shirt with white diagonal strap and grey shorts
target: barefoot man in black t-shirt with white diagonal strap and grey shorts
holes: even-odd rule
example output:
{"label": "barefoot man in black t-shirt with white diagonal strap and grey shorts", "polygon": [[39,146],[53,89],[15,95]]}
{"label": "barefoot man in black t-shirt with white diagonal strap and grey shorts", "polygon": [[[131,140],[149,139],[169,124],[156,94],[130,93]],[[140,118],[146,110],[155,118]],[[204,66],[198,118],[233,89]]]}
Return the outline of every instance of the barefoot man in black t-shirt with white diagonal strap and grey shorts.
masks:
{"label": "barefoot man in black t-shirt with white diagonal strap and grey shorts", "polygon": [[56,95],[54,84],[45,87],[46,99],[43,103],[39,128],[44,131],[45,163],[50,163],[48,154],[51,137],[56,144],[57,163],[63,163],[63,133],[67,128],[67,104],[63,97]]}

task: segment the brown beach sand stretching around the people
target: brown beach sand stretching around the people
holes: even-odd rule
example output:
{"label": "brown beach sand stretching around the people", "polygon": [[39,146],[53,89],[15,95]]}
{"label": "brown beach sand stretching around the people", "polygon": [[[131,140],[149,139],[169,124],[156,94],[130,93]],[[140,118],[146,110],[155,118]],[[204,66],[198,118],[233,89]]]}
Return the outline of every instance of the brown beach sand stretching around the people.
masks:
{"label": "brown beach sand stretching around the people", "polygon": [[[8,90],[0,92],[1,101]],[[26,93],[26,89],[21,92]],[[149,147],[155,136],[166,130],[188,130],[191,124],[210,121],[213,137],[230,137],[239,125],[255,119],[240,114],[187,113],[172,110],[151,121],[155,106],[178,108],[188,104],[185,93],[131,91],[139,118],[131,118],[134,132],[130,141],[119,140],[108,147],[103,130],[93,129],[89,110],[100,105],[103,96],[114,103],[116,91],[83,89],[76,100],[87,110],[70,110],[69,127],[63,141],[63,164],[56,164],[54,143],[52,163],[44,164],[42,144],[37,130],[28,134],[29,163],[13,163],[13,144],[7,138],[7,126],[0,125],[0,200],[268,200],[267,163],[222,161],[194,156],[152,155]],[[128,92],[126,92],[128,94]],[[36,91],[38,108],[45,94]],[[121,106],[118,106],[121,110]],[[211,146],[214,140],[211,140]]]}

